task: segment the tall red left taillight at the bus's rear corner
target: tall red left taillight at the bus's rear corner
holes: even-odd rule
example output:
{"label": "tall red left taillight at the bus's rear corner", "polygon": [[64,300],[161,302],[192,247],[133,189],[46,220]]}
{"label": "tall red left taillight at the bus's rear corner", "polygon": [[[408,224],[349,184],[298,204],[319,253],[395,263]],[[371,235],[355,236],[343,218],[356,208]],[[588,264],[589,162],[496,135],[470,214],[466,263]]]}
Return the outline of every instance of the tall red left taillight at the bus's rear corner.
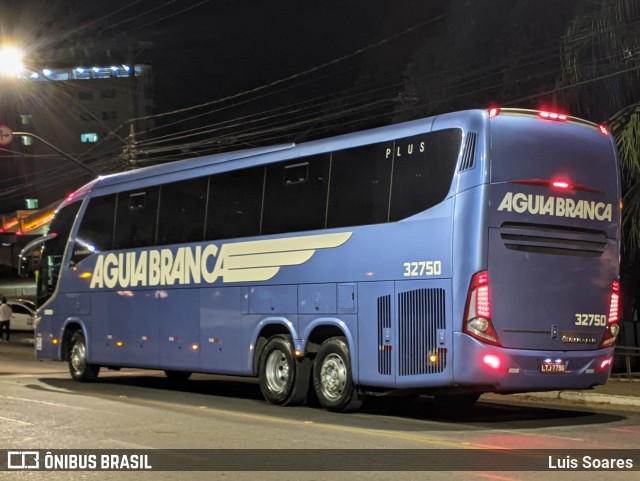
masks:
{"label": "tall red left taillight at the bus's rear corner", "polygon": [[481,271],[471,279],[462,330],[476,339],[500,346],[498,335],[491,323],[491,295],[489,273]]}

